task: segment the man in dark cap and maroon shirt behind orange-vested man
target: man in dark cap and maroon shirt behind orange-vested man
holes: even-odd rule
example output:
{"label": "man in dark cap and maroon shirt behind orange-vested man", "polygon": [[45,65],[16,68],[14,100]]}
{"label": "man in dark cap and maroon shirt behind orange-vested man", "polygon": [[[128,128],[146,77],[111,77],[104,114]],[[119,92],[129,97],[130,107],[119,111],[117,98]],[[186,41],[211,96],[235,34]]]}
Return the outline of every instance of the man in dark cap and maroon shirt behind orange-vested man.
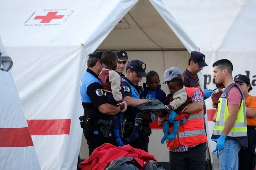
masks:
{"label": "man in dark cap and maroon shirt behind orange-vested man", "polygon": [[[205,62],[205,55],[198,51],[192,51],[191,56],[188,60],[188,68],[183,72],[184,76],[184,86],[186,87],[196,87],[202,89],[198,79],[197,73],[203,69],[203,67],[208,66]],[[204,100],[209,98],[214,92],[211,89],[204,89]],[[204,104],[204,114],[206,113],[206,107]]]}

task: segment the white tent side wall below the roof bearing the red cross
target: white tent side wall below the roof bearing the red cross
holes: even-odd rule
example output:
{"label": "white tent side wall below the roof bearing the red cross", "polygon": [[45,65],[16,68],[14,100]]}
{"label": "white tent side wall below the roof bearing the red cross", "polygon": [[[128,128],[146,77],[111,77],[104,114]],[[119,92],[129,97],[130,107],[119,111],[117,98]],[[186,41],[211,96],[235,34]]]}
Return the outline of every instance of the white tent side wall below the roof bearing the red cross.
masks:
{"label": "white tent side wall below the roof bearing the red cross", "polygon": [[[40,50],[38,47],[10,47],[7,50],[12,51],[14,65],[19,63],[20,54],[26,56],[26,61],[13,69],[26,119],[71,120],[68,134],[42,132],[40,126],[49,125],[37,125],[39,134],[32,134],[32,139],[41,168],[74,169],[82,132],[78,120],[83,114],[78,91],[81,64],[84,64],[81,46],[43,47]],[[59,124],[53,128],[63,126]]]}

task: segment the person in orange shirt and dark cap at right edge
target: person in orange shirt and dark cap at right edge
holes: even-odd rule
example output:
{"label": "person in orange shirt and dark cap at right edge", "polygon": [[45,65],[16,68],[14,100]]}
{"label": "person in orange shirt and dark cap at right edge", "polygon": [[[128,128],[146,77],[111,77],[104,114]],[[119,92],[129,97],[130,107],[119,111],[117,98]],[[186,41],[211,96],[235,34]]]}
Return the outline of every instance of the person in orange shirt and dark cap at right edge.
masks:
{"label": "person in orange shirt and dark cap at right edge", "polygon": [[242,89],[245,98],[246,124],[248,147],[242,147],[238,153],[238,169],[254,169],[256,164],[256,96],[249,95],[252,90],[250,78],[246,75],[238,74],[234,77],[236,84]]}

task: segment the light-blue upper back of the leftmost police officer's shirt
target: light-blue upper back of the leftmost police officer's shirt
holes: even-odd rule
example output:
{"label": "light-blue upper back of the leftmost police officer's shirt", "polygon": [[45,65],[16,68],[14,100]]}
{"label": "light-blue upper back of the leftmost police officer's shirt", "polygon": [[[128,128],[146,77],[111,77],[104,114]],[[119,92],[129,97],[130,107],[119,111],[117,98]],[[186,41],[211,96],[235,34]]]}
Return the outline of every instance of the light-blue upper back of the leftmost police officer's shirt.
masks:
{"label": "light-blue upper back of the leftmost police officer's shirt", "polygon": [[[97,79],[95,76],[93,76],[91,73],[87,71],[82,75],[82,78],[79,83],[82,102],[84,103],[92,102],[87,94],[87,88],[90,84],[95,82],[101,84],[101,81],[99,81],[99,79]],[[95,93],[98,93],[98,95],[103,95],[103,90],[101,91],[101,89],[99,89],[97,92],[95,91]]]}

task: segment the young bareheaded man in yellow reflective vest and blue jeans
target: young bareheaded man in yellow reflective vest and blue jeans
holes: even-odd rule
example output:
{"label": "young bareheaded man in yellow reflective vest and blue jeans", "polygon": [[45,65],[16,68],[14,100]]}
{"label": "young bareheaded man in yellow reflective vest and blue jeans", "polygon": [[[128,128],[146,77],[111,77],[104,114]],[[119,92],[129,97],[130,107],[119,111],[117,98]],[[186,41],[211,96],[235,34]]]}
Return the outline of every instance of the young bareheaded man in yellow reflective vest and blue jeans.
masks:
{"label": "young bareheaded man in yellow reflective vest and blue jeans", "polygon": [[217,143],[219,170],[238,169],[238,152],[247,147],[246,112],[243,92],[232,77],[233,65],[227,59],[213,63],[213,77],[225,90],[220,96],[212,140]]}

